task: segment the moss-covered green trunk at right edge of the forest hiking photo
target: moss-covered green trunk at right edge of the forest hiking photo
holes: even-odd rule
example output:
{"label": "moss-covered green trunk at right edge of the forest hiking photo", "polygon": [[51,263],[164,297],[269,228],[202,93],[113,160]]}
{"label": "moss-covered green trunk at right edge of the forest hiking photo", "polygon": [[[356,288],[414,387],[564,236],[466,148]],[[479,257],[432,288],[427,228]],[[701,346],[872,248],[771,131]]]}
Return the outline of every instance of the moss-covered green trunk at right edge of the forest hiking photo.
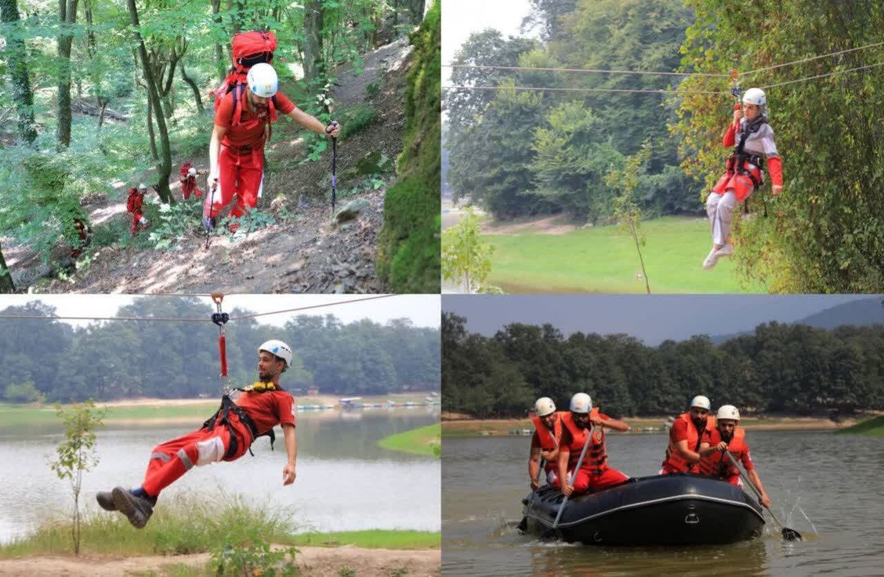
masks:
{"label": "moss-covered green trunk at right edge of the forest hiking photo", "polygon": [[377,275],[392,292],[439,291],[441,32],[437,0],[410,36],[415,63],[408,73],[399,181],[387,189],[377,238]]}

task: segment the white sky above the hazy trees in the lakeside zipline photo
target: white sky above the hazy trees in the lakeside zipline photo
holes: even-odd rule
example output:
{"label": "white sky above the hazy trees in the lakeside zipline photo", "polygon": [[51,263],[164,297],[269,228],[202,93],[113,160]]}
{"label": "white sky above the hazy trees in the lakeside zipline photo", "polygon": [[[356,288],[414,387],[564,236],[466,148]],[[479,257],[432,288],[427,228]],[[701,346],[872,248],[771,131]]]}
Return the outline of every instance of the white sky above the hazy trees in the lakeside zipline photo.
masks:
{"label": "white sky above the hazy trees in the lakeside zipline photo", "polygon": [[[121,306],[131,304],[134,298],[178,298],[177,296],[124,296],[124,295],[9,295],[0,296],[0,311],[8,306],[21,306],[31,301],[42,301],[56,307],[59,317],[109,317],[114,316]],[[210,304],[209,296],[200,300]],[[248,309],[251,312],[271,312],[293,309],[313,304],[333,304],[341,301],[364,298],[359,295],[228,295],[223,301],[223,310],[233,308]],[[343,323],[359,319],[371,319],[385,324],[390,319],[411,319],[415,327],[439,326],[438,295],[397,295],[362,303],[338,304],[304,312],[258,317],[264,325],[282,327],[288,319],[298,314],[312,316],[333,314]],[[3,319],[0,319],[0,323]],[[89,321],[66,321],[75,326],[85,326]]]}

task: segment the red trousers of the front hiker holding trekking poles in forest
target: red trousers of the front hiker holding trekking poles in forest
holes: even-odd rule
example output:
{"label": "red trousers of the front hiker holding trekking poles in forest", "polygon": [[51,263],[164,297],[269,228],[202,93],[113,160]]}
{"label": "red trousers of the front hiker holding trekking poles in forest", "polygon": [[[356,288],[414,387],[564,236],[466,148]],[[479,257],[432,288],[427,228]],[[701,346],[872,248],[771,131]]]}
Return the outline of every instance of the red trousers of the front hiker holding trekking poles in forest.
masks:
{"label": "red trousers of the front hiker holding trekking poles in forest", "polygon": [[218,188],[206,194],[211,198],[211,211],[205,216],[213,218],[231,204],[236,196],[230,216],[241,217],[248,209],[258,205],[258,196],[264,181],[264,149],[248,150],[221,147],[218,154]]}

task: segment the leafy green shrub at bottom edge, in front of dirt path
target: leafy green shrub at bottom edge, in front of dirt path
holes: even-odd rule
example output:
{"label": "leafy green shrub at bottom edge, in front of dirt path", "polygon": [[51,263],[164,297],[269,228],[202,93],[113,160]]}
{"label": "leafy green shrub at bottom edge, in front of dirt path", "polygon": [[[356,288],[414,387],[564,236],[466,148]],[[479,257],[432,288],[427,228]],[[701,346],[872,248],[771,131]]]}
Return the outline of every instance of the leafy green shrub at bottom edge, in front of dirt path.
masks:
{"label": "leafy green shrub at bottom edge, in front of dirt path", "polygon": [[246,535],[229,533],[224,544],[211,551],[211,565],[217,575],[295,575],[298,550],[271,550],[269,542],[256,531]]}

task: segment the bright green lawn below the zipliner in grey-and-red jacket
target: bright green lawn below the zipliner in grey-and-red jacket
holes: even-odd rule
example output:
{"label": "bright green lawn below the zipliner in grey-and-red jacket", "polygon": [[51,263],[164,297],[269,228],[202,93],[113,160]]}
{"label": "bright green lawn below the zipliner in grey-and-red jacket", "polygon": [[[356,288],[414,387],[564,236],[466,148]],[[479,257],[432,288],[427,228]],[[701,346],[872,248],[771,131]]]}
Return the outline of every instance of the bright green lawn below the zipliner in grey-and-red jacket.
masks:
{"label": "bright green lawn below the zipliner in grey-and-red jacket", "polygon": [[[642,248],[653,293],[762,293],[742,286],[735,265],[721,258],[712,271],[701,264],[712,238],[696,217],[663,217],[642,223]],[[484,235],[496,250],[488,283],[513,293],[643,293],[636,246],[616,225],[563,235]],[[739,246],[737,246],[739,250]]]}

